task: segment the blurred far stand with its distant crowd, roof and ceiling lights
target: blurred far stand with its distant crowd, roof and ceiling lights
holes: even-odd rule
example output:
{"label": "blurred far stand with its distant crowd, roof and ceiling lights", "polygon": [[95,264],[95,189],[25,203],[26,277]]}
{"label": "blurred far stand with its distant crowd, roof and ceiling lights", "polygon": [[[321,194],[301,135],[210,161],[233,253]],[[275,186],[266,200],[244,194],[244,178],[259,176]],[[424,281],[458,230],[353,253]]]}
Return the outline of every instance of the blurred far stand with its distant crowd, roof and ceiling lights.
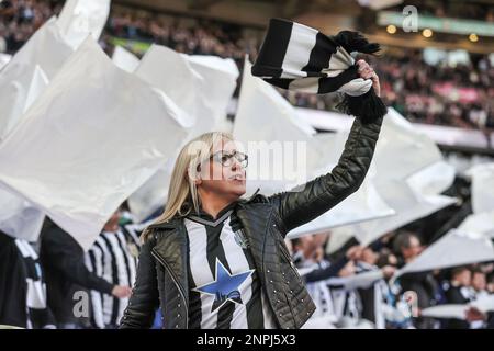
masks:
{"label": "blurred far stand with its distant crowd, roof and ceiling lights", "polygon": [[[15,53],[63,4],[2,1],[0,53]],[[415,32],[403,29],[406,5],[422,16]],[[157,43],[180,53],[231,57],[242,68],[245,54],[256,58],[273,16],[326,34],[361,31],[384,47],[383,57],[371,61],[389,105],[412,122],[480,131],[485,139],[464,146],[492,148],[494,4],[489,0],[116,0],[100,44],[109,54],[122,45],[142,56]],[[294,105],[317,110],[332,110],[332,98],[287,94]]]}

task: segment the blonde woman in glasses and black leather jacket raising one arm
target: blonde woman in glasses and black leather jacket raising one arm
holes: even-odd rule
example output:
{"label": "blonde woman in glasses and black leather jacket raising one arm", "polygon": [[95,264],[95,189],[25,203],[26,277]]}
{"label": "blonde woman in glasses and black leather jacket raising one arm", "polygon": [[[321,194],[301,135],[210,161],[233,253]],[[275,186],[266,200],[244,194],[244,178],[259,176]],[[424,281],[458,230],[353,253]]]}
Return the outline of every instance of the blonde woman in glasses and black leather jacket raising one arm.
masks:
{"label": "blonde woman in glasses and black leather jacket raising one arm", "polygon": [[[358,65],[379,95],[378,76],[363,60]],[[381,124],[382,117],[356,120],[338,165],[302,191],[248,200],[240,199],[247,156],[229,135],[189,143],[176,161],[165,212],[143,235],[121,328],[149,328],[158,307],[170,329],[302,327],[315,306],[284,237],[359,189]]]}

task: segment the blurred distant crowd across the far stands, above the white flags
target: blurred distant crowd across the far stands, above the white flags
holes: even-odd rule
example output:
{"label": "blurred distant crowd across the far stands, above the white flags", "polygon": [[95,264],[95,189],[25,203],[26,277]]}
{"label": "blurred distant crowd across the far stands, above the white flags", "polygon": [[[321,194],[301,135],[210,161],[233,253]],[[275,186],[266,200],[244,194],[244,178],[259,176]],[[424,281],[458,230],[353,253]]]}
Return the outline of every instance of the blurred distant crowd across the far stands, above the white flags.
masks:
{"label": "blurred distant crowd across the far stands, above the white flags", "polygon": [[[15,53],[60,8],[59,1],[4,0],[0,5],[0,53]],[[183,18],[113,7],[101,45],[111,52],[111,37],[157,43],[187,54],[231,57],[242,69],[245,54],[251,60],[256,58],[260,35],[245,35],[242,27],[233,24],[184,21]],[[400,52],[400,57],[384,55],[371,59],[381,77],[382,95],[389,105],[413,122],[494,128],[494,67],[487,56],[450,67],[447,63],[426,64],[422,50]],[[292,104],[302,107],[335,110],[338,103],[334,94],[280,92]]]}

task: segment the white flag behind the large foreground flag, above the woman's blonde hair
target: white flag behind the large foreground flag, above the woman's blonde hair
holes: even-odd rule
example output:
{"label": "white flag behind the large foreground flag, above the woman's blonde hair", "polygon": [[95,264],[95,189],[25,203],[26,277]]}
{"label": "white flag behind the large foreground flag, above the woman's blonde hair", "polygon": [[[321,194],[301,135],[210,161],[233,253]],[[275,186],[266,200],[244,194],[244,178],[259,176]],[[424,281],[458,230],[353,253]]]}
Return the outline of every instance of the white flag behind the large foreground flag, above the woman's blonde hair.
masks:
{"label": "white flag behind the large foreground flag, above the woman's blonde hair", "polygon": [[[143,57],[135,75],[161,90],[176,102],[194,123],[183,144],[202,133],[216,131],[226,117],[238,77],[232,59],[211,56],[189,56],[170,48],[153,45]],[[144,220],[162,208],[178,149],[141,189],[128,199],[131,212]]]}

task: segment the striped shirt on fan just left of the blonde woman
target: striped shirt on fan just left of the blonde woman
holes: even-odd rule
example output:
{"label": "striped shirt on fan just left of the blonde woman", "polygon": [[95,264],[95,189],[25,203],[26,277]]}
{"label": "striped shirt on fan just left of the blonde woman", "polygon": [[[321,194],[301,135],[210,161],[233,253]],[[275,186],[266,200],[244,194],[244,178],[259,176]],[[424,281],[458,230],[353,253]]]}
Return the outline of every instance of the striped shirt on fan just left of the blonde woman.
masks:
{"label": "striped shirt on fan just left of the blonde woman", "polygon": [[[138,231],[132,226],[125,230],[102,231],[86,252],[87,268],[113,285],[133,286],[138,254]],[[127,306],[128,298],[117,298],[98,291],[90,291],[90,322],[94,328],[116,327]]]}

